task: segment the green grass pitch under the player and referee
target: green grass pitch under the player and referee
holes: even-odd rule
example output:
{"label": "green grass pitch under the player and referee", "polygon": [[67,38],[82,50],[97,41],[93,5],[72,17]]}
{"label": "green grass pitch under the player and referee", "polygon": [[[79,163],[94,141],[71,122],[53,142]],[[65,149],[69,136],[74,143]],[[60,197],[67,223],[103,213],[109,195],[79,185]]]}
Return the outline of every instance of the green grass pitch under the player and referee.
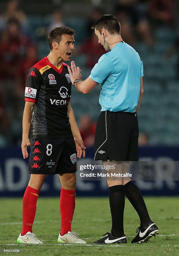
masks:
{"label": "green grass pitch under the player and referee", "polygon": [[[159,235],[148,243],[131,244],[140,221],[126,199],[124,228],[127,244],[92,245],[111,228],[108,198],[76,197],[72,231],[80,234],[87,245],[58,244],[60,210],[58,197],[39,197],[33,232],[42,245],[17,245],[21,232],[22,198],[0,198],[0,255],[179,255],[179,211],[177,197],[146,197],[151,219],[159,227]],[[21,249],[21,253],[3,254],[2,249]]]}

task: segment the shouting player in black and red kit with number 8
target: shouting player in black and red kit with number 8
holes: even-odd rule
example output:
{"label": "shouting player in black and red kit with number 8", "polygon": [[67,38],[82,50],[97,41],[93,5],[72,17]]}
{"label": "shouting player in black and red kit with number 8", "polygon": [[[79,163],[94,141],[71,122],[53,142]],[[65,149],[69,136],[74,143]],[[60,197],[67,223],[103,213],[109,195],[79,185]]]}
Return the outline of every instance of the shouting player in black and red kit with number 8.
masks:
{"label": "shouting player in black and red kit with number 8", "polygon": [[[27,74],[23,115],[22,153],[31,145],[28,186],[23,197],[23,227],[17,243],[41,244],[32,233],[36,203],[47,174],[59,174],[61,232],[59,243],[86,243],[71,232],[75,209],[76,160],[85,147],[70,106],[71,80],[63,60],[70,61],[74,30],[56,27],[49,36],[50,53]],[[32,142],[29,129],[32,121]]]}

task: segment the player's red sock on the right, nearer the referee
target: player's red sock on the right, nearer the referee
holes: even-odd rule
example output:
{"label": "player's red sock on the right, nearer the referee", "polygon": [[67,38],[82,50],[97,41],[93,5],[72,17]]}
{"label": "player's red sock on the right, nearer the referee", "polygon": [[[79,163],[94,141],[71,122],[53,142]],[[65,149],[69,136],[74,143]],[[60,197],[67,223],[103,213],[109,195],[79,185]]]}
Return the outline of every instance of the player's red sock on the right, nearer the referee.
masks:
{"label": "player's red sock on the right, nearer the referee", "polygon": [[61,188],[60,213],[61,213],[61,236],[71,232],[71,223],[75,210],[75,190]]}

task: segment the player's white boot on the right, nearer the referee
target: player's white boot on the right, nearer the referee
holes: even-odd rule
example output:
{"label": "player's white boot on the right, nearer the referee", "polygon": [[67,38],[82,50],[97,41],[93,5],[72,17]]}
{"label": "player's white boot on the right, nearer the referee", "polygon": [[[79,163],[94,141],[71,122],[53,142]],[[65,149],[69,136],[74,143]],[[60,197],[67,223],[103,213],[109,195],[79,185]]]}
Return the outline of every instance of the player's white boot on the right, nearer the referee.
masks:
{"label": "player's white boot on the right, nearer the referee", "polygon": [[61,236],[59,234],[58,237],[58,243],[86,243],[86,241],[78,238],[79,234],[76,232],[70,232],[66,233],[64,236]]}

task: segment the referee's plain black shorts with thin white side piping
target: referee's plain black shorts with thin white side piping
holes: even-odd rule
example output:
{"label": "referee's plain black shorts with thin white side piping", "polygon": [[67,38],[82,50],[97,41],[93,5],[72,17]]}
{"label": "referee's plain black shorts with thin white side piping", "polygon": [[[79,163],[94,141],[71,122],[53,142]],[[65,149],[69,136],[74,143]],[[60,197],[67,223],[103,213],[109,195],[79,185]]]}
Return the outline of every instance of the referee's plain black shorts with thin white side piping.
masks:
{"label": "referee's plain black shorts with thin white side piping", "polygon": [[96,125],[95,160],[139,161],[137,113],[102,111]]}

